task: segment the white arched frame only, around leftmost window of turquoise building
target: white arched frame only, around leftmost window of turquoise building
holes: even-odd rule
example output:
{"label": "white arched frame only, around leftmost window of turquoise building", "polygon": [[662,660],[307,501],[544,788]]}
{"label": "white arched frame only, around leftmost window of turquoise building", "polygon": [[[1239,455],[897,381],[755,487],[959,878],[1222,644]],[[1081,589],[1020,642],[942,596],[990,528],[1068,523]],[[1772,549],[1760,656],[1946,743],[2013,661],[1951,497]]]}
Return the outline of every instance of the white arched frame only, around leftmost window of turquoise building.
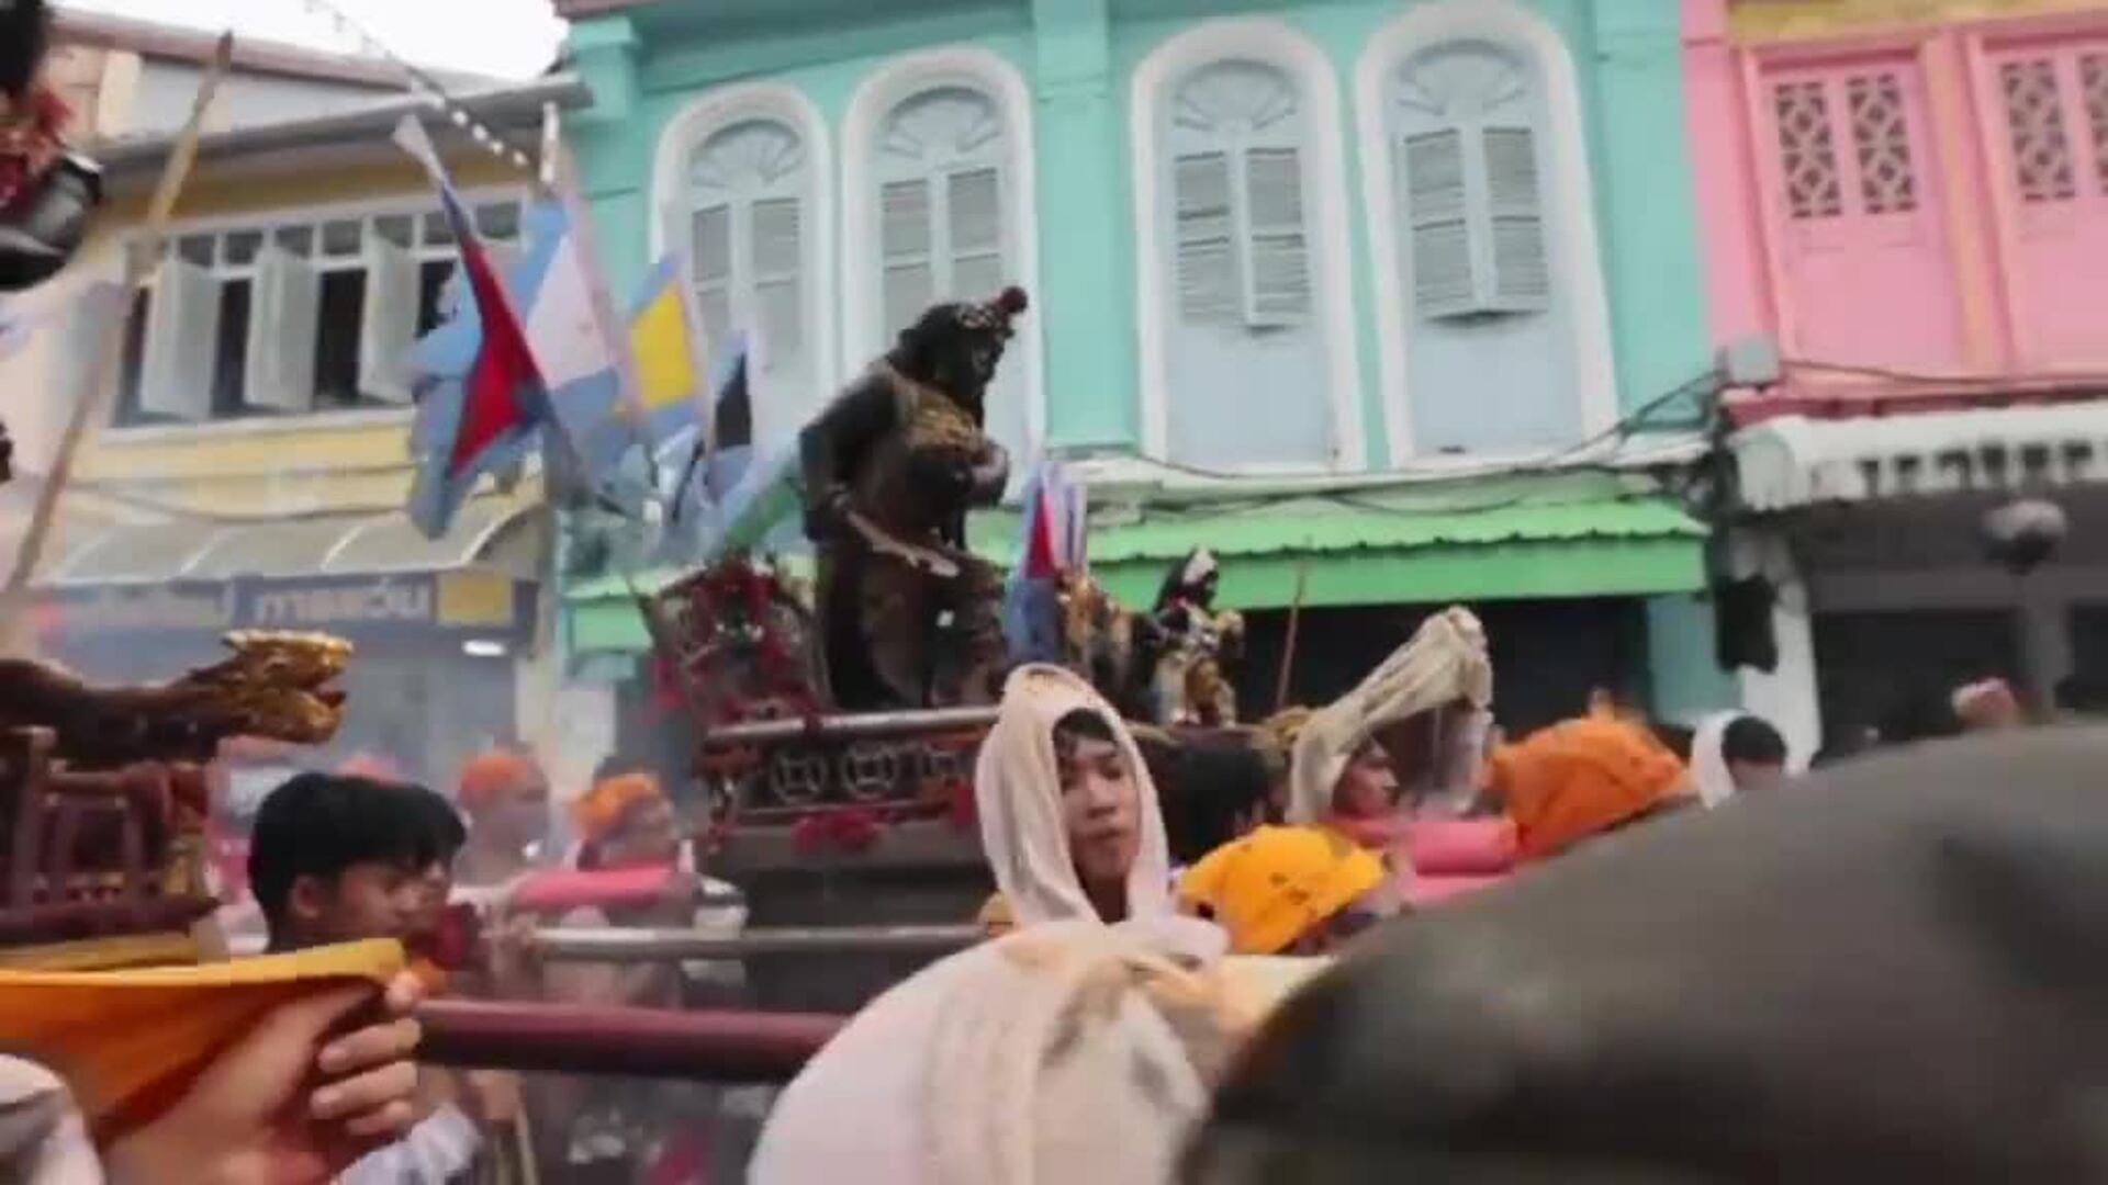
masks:
{"label": "white arched frame only, around leftmost window of turquoise building", "polygon": [[[814,405],[824,405],[833,388],[841,382],[841,352],[835,325],[835,308],[828,291],[837,285],[835,270],[835,148],[820,118],[820,108],[801,91],[778,82],[742,82],[706,91],[666,120],[660,131],[658,152],[651,162],[651,211],[647,211],[651,257],[658,259],[668,247],[668,215],[679,221],[679,232],[687,234],[689,158],[708,139],[746,120],[776,120],[797,131],[805,141],[807,169],[812,181],[807,196],[812,209],[805,211],[803,274],[807,276],[801,304],[805,312],[805,335],[812,348],[812,373],[820,390],[812,392]],[[683,276],[683,283],[694,283]],[[708,344],[717,350],[719,344]],[[767,350],[767,342],[761,344]],[[767,403],[767,375],[755,377],[757,411]],[[761,411],[767,417],[767,411]],[[780,428],[780,424],[778,424]]]}

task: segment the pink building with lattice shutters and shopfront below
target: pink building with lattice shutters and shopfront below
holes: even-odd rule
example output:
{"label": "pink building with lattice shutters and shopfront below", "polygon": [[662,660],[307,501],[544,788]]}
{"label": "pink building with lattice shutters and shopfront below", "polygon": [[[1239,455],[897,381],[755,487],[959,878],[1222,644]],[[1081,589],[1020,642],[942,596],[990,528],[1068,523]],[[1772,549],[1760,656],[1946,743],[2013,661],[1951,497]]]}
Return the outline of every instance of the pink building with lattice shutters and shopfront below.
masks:
{"label": "pink building with lattice shutters and shopfront below", "polygon": [[[1807,740],[2108,679],[2108,0],[1684,0],[1684,53],[1712,333],[1783,358],[1731,403],[1745,698]],[[2022,493],[2074,529],[2015,578],[1975,525]]]}

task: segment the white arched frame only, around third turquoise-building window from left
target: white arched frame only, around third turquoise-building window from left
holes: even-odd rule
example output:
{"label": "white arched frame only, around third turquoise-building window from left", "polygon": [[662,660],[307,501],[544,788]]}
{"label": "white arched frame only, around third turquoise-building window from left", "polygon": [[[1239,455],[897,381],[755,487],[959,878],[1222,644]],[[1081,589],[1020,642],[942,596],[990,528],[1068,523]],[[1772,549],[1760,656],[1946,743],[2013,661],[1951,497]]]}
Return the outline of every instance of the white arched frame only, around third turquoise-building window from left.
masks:
{"label": "white arched frame only, around third turquoise-building window from left", "polygon": [[[1134,145],[1134,257],[1136,329],[1140,337],[1143,453],[1170,455],[1170,348],[1168,310],[1174,283],[1174,245],[1162,232],[1159,205],[1170,200],[1162,162],[1166,158],[1164,103],[1174,86],[1195,70],[1218,61],[1254,61],[1284,72],[1307,103],[1311,143],[1303,167],[1303,202],[1309,217],[1311,316],[1328,363],[1326,394],[1332,409],[1332,464],[1366,466],[1362,432],[1362,377],[1353,335],[1353,270],[1347,247],[1345,131],[1339,82],[1324,51],[1284,21],[1237,17],[1195,25],[1157,46],[1134,70],[1128,97],[1130,141]],[[1252,466],[1258,470],[1261,466]],[[1309,466],[1288,466],[1309,468]]]}

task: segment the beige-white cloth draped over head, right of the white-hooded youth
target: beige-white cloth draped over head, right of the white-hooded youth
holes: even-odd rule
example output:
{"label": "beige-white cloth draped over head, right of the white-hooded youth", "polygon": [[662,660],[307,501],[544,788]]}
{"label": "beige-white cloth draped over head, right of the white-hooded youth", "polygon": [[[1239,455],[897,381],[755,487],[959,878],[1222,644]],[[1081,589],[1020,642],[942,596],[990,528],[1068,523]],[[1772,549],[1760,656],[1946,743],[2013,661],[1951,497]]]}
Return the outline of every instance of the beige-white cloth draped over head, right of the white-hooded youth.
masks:
{"label": "beige-white cloth draped over head, right of the white-hooded youth", "polygon": [[1339,776],[1379,730],[1457,700],[1473,708],[1492,704],[1492,660],[1478,618],[1450,607],[1421,622],[1360,687],[1303,725],[1288,768],[1288,822],[1311,824],[1332,814]]}

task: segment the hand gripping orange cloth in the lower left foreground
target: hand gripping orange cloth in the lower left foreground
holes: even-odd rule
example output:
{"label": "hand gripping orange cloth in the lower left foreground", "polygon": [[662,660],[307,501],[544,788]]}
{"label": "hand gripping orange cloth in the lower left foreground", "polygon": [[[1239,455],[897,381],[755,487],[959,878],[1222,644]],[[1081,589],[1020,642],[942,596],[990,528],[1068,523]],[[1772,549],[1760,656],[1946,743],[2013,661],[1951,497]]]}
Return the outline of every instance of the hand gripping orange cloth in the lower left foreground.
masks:
{"label": "hand gripping orange cloth in the lower left foreground", "polygon": [[[329,1040],[375,1002],[367,985],[285,1004],[219,1054],[175,1107],[108,1153],[120,1183],[318,1185],[415,1122],[417,978],[396,976],[382,1016]],[[320,1073],[320,1086],[310,1082]]]}

